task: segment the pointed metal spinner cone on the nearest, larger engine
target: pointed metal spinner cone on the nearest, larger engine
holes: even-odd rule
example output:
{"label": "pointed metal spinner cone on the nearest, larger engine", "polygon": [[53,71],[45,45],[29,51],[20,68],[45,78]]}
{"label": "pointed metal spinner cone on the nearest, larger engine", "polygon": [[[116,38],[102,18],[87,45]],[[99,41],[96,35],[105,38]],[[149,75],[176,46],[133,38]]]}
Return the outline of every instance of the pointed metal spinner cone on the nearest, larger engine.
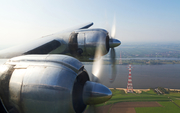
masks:
{"label": "pointed metal spinner cone on the nearest, larger engine", "polygon": [[83,90],[83,101],[88,105],[100,104],[108,101],[112,97],[112,92],[106,86],[87,81]]}

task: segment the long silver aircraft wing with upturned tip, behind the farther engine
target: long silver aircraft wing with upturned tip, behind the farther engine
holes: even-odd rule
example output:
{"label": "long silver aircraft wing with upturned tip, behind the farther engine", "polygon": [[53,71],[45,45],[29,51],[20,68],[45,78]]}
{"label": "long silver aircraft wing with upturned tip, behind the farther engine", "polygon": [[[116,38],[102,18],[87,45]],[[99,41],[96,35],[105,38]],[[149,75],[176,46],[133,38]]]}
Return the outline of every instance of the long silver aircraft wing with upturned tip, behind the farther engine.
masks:
{"label": "long silver aircraft wing with upturned tip, behind the farther engine", "polygon": [[58,53],[63,54],[68,46],[68,38],[73,30],[87,29],[93,25],[92,22],[68,29],[59,33],[44,36],[30,42],[25,42],[21,45],[4,49],[0,51],[0,58],[12,58],[26,54],[49,54],[53,50],[58,49]]}

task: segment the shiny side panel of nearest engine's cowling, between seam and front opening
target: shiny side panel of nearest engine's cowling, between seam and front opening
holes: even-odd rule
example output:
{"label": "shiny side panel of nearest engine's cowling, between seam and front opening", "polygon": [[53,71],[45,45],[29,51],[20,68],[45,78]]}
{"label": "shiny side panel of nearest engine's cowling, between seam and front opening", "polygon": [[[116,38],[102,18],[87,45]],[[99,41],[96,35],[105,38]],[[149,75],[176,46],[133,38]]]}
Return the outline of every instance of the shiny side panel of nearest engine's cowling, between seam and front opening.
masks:
{"label": "shiny side panel of nearest engine's cowling, between seam and front opening", "polygon": [[74,112],[71,93],[75,78],[74,72],[62,67],[29,66],[21,89],[23,111],[25,113]]}

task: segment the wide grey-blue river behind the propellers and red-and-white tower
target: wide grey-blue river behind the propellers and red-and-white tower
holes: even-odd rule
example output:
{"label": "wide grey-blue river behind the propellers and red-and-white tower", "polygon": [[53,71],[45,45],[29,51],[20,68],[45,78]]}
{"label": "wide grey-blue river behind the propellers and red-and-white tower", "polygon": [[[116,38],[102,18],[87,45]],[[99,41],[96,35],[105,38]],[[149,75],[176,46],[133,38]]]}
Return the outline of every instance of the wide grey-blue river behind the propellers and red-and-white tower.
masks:
{"label": "wide grey-blue river behind the propellers and red-and-white tower", "polygon": [[[110,65],[103,65],[101,83],[109,88],[126,88],[129,71],[127,65],[116,65],[117,76],[113,83],[109,82]],[[91,73],[92,65],[85,65]],[[180,64],[165,65],[133,65],[132,83],[134,89],[165,87],[180,89]],[[90,74],[91,76],[91,74]]]}

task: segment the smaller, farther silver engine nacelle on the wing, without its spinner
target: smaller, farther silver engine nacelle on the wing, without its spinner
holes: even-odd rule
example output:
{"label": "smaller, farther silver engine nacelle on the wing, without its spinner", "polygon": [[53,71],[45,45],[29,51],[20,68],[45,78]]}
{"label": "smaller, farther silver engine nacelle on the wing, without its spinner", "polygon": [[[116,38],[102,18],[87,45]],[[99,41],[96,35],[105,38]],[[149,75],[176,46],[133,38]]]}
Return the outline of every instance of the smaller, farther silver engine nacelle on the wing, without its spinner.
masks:
{"label": "smaller, farther silver engine nacelle on the wing, without its spinner", "polygon": [[97,47],[102,55],[109,52],[109,36],[103,29],[80,30],[70,35],[69,50],[73,56],[93,58]]}

